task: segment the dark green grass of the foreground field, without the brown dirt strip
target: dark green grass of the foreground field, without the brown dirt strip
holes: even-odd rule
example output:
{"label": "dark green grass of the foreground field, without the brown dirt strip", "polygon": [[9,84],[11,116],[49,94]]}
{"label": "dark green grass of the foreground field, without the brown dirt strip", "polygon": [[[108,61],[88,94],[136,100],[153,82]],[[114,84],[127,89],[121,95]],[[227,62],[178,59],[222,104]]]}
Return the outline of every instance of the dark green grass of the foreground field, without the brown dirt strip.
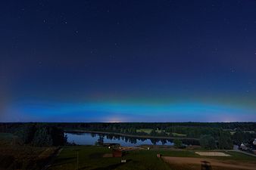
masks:
{"label": "dark green grass of the foreground field, without the brown dirt strip", "polygon": [[[77,151],[78,150],[78,151]],[[157,154],[161,153],[163,156],[176,157],[197,157],[197,158],[211,158],[223,161],[233,162],[255,162],[256,158],[247,156],[243,153],[228,152],[230,157],[217,156],[199,156],[195,154],[195,150],[136,150],[130,151],[123,156],[126,163],[120,163],[120,158],[105,158],[102,157],[105,153],[111,153],[106,147],[64,147],[61,154],[55,159],[52,167],[48,170],[67,170],[76,168],[76,156],[78,153],[79,169],[89,170],[110,170],[110,169],[180,169],[176,165],[169,165],[162,159],[157,158]]]}

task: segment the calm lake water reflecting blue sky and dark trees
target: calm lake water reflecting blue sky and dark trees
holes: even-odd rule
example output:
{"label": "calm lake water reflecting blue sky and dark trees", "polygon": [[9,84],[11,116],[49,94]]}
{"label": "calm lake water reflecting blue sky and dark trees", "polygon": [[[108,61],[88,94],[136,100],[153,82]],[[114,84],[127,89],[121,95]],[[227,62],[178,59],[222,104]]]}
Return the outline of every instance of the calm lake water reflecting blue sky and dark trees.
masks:
{"label": "calm lake water reflecting blue sky and dark trees", "polygon": [[80,133],[80,134],[73,134],[73,133],[66,133],[67,134],[67,141],[75,144],[80,145],[95,145],[95,143],[99,140],[104,143],[117,143],[121,146],[133,147],[139,146],[142,144],[155,144],[155,145],[169,145],[172,146],[173,143],[170,140],[166,139],[146,139],[146,138],[130,138],[130,137],[123,137],[117,136],[113,134],[92,134],[92,133]]}

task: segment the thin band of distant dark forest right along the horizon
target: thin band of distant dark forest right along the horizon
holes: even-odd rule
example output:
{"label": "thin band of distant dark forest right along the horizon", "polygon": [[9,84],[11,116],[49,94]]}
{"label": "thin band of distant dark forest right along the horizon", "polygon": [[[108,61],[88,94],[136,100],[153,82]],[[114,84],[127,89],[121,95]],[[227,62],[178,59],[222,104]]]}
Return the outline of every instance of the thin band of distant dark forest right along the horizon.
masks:
{"label": "thin band of distant dark forest right along the horizon", "polygon": [[[18,125],[30,124],[32,122],[10,122],[0,123],[3,128],[14,128]],[[34,123],[34,122],[33,122]],[[120,128],[159,128],[166,129],[168,127],[182,126],[182,127],[207,127],[207,128],[223,128],[236,129],[242,131],[255,131],[256,122],[40,122],[41,125],[56,125],[62,128],[88,128],[88,129],[120,129]]]}

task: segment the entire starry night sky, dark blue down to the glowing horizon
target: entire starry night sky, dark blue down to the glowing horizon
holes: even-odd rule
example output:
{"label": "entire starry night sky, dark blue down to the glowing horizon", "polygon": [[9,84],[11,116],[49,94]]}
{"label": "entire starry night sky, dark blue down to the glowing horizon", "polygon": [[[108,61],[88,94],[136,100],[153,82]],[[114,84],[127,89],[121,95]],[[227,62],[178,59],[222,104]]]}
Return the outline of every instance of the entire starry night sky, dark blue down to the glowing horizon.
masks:
{"label": "entire starry night sky, dark blue down to the glowing horizon", "polygon": [[256,121],[254,0],[2,0],[0,122]]}

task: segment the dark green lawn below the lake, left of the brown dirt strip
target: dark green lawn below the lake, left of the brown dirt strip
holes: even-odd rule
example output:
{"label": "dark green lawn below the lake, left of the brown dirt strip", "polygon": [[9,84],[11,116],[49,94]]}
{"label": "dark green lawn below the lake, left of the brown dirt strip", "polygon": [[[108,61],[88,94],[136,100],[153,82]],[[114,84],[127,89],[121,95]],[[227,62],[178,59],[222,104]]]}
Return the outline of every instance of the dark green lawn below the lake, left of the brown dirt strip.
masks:
{"label": "dark green lawn below the lake, left of the brown dirt strip", "polygon": [[76,149],[79,151],[79,169],[112,170],[112,169],[170,169],[167,163],[156,157],[158,151],[132,151],[123,156],[126,163],[120,163],[120,158],[103,158],[111,150],[105,147],[65,147],[55,159],[49,170],[70,170],[76,167]]}

